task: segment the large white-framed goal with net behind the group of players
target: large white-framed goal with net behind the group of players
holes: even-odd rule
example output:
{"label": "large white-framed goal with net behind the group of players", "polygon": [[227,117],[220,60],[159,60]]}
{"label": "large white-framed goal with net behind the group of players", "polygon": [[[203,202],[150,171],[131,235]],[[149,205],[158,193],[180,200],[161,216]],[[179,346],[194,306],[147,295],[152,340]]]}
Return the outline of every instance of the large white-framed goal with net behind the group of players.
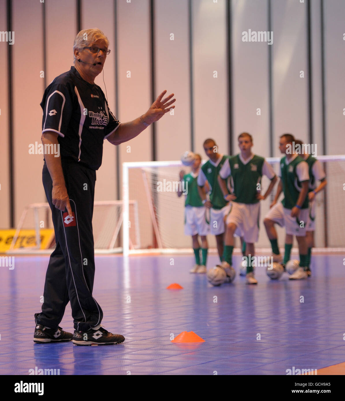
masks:
{"label": "large white-framed goal with net behind the group of players", "polygon": [[[319,156],[327,175],[326,189],[316,196],[315,247],[327,251],[341,251],[345,245],[344,202],[345,156]],[[278,175],[280,158],[266,158]],[[123,251],[124,255],[144,252],[161,253],[185,252],[192,248],[191,237],[184,235],[185,196],[177,196],[179,172],[185,174],[190,167],[180,161],[125,162],[122,164],[122,196],[124,202]],[[262,178],[262,193],[269,186],[266,176]],[[256,248],[270,248],[263,220],[270,209],[277,184],[272,194],[261,201],[260,235]],[[280,195],[282,200],[283,195]],[[130,217],[129,200],[138,203],[138,223],[140,247],[131,247],[133,225]],[[126,223],[127,222],[127,223]],[[285,231],[276,226],[280,246],[284,244]],[[209,248],[216,248],[215,237],[207,237]],[[296,242],[294,242],[296,246]],[[237,239],[236,246],[239,246]]]}

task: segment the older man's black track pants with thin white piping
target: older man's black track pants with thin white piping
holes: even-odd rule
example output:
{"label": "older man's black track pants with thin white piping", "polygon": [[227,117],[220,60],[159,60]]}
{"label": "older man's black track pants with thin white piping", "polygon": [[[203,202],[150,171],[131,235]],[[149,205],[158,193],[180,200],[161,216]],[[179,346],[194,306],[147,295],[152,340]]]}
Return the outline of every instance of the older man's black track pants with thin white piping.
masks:
{"label": "older man's black track pants with thin white piping", "polygon": [[101,323],[103,312],[92,297],[95,275],[92,214],[96,172],[76,162],[62,162],[63,175],[73,212],[60,211],[52,203],[53,182],[44,164],[42,179],[51,207],[56,249],[51,254],[45,278],[42,312],[36,324],[57,328],[68,301],[74,328],[87,331]]}

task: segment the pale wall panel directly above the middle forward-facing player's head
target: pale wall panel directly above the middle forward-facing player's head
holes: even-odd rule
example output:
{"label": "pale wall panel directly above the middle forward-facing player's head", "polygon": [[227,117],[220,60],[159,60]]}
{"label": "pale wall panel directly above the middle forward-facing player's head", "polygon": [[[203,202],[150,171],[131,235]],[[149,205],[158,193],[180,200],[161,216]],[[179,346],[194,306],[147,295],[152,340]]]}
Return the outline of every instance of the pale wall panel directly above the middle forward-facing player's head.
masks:
{"label": "pale wall panel directly above the middle forward-facing player's head", "polygon": [[[242,32],[268,31],[267,0],[232,2],[233,153],[241,132],[253,136],[253,152],[270,156],[268,42],[244,42]],[[257,109],[260,109],[257,111]],[[258,115],[257,113],[261,113]]]}

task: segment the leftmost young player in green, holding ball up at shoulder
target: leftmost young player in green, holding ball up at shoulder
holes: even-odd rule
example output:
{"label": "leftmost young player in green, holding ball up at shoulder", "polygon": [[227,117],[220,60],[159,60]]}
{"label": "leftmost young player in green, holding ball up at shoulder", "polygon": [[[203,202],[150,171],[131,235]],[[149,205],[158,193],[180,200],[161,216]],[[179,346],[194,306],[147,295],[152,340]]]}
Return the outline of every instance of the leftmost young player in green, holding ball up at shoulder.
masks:
{"label": "leftmost young player in green, holding ball up at shoulder", "polygon": [[[180,181],[185,182],[186,190],[177,192],[177,196],[183,193],[186,195],[185,201],[185,235],[192,236],[193,251],[195,254],[195,266],[189,273],[206,273],[207,261],[207,237],[209,233],[209,225],[206,221],[206,207],[203,205],[197,184],[197,177],[200,171],[201,156],[195,154],[195,161],[192,165],[192,171],[185,174],[184,170],[180,171]],[[205,183],[206,192],[209,191],[207,182]],[[201,237],[201,254],[202,262],[200,263],[200,244],[198,235]]]}

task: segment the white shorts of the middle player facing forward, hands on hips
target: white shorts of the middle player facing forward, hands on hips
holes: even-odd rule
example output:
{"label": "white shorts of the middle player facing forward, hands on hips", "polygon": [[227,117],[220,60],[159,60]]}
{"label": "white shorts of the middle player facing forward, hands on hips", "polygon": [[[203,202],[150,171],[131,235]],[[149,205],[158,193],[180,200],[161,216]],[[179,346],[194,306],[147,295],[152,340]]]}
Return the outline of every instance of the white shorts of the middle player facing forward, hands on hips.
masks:
{"label": "white shorts of the middle player facing forward, hands on hips", "polygon": [[226,223],[237,226],[237,234],[242,233],[244,241],[255,243],[259,239],[260,202],[254,204],[231,203]]}

